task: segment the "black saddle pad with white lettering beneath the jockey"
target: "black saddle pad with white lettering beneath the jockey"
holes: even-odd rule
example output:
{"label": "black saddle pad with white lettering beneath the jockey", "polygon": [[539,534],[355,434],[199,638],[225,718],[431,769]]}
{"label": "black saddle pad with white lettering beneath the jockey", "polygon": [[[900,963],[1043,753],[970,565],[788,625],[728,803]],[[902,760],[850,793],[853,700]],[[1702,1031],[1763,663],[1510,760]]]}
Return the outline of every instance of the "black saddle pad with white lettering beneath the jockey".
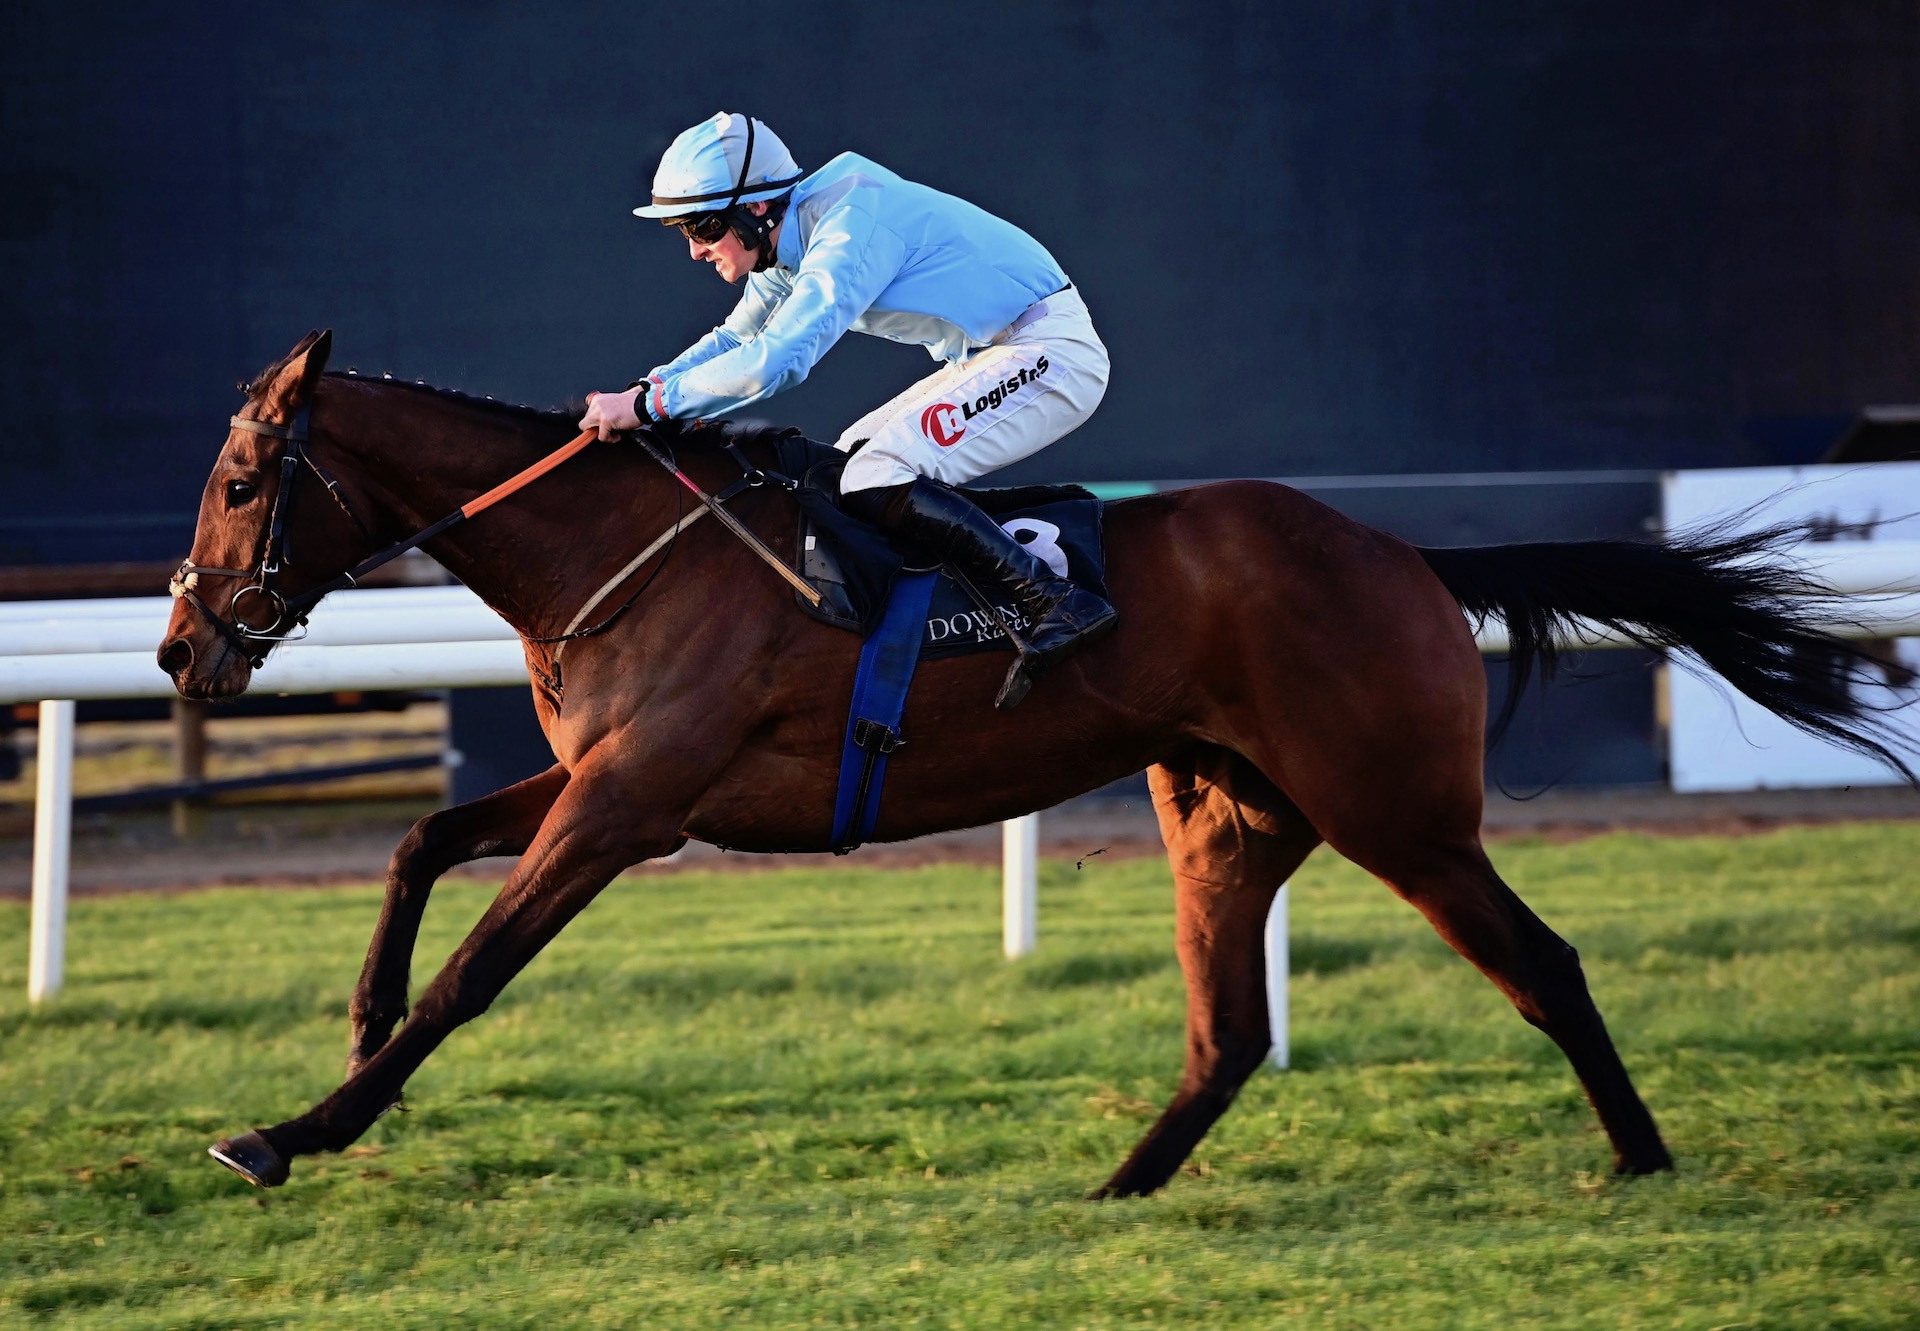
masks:
{"label": "black saddle pad with white lettering beneath the jockey", "polygon": [[[781,471],[801,478],[797,567],[820,592],[820,605],[795,593],[795,603],[814,618],[866,638],[887,607],[887,588],[902,569],[924,569],[900,553],[881,532],[843,513],[839,472],[847,455],[791,438],[780,446]],[[972,488],[960,494],[977,503],[1014,540],[1054,572],[1106,597],[1106,553],[1100,542],[1100,499],[1079,486]],[[1025,620],[1010,603],[998,607],[1014,624]],[[968,651],[1008,647],[993,617],[945,572],[935,580],[933,603],[920,643],[922,657],[954,657]]]}

